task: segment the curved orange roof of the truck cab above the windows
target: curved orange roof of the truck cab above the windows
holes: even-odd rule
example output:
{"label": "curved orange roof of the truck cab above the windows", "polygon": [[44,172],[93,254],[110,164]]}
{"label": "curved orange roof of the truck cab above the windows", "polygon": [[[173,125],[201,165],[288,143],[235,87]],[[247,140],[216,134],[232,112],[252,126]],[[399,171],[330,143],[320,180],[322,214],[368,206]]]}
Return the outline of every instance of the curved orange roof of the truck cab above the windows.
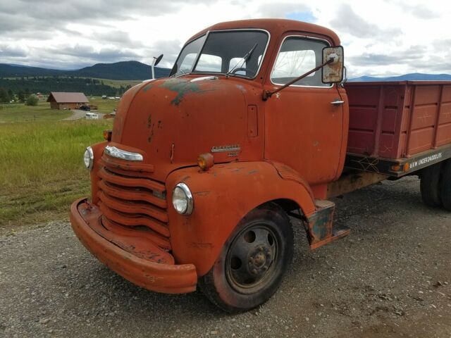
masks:
{"label": "curved orange roof of the truck cab above the windows", "polygon": [[340,44],[340,38],[332,30],[326,27],[321,27],[319,25],[314,25],[313,23],[304,23],[297,20],[287,20],[287,19],[251,19],[251,20],[236,20],[228,21],[225,23],[216,23],[204,30],[198,32],[196,35],[192,36],[188,41],[194,39],[194,37],[199,37],[209,30],[236,30],[236,29],[246,29],[254,28],[267,30],[271,37],[278,37],[283,35],[285,32],[305,32],[314,33],[316,35],[323,35],[329,37],[333,40],[335,46]]}

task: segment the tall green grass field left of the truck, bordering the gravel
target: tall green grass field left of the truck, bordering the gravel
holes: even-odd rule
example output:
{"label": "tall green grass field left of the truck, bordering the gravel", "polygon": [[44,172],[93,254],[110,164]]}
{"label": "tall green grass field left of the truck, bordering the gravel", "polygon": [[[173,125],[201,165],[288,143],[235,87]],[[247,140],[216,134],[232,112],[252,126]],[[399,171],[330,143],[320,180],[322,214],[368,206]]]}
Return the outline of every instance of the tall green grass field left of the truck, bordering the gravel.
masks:
{"label": "tall green grass field left of the truck, bordering the gravel", "polygon": [[[97,100],[99,111],[111,112],[118,104]],[[102,141],[102,130],[113,121],[61,121],[70,112],[48,105],[0,110],[0,230],[68,219],[70,203],[89,194],[82,155],[86,146]]]}

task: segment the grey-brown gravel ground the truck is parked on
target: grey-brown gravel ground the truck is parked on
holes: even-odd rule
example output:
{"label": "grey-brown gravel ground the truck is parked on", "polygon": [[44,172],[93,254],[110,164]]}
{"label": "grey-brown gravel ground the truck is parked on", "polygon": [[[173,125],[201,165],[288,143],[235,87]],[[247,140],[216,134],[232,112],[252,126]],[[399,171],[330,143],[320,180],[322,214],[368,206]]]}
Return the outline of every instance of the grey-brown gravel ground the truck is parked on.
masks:
{"label": "grey-brown gravel ground the truck is parked on", "polygon": [[451,337],[451,213],[419,180],[336,199],[349,237],[295,261],[264,306],[240,315],[200,292],[147,292],[85,250],[66,222],[0,237],[1,337]]}

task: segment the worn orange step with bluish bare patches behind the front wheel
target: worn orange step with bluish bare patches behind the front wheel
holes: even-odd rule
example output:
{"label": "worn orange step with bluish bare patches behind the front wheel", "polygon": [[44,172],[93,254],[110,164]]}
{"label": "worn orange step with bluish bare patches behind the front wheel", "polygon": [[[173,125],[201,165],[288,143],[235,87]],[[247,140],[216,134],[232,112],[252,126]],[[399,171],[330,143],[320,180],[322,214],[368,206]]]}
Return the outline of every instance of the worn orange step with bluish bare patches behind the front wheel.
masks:
{"label": "worn orange step with bluish bare patches behind the front wheel", "polygon": [[333,225],[333,214],[335,203],[327,200],[316,200],[316,212],[307,218],[307,238],[310,249],[333,242],[350,234],[348,227],[337,227]]}

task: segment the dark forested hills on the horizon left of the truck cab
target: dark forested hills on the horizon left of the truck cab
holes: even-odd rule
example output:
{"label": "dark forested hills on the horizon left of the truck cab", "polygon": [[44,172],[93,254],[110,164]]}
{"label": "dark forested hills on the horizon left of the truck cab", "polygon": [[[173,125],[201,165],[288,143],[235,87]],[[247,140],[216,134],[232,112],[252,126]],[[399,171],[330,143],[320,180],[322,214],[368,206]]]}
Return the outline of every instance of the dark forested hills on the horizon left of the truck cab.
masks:
{"label": "dark forested hills on the horizon left of the truck cab", "polygon": [[[155,77],[168,76],[169,68],[155,67]],[[138,61],[97,63],[78,70],[58,70],[0,63],[0,77],[74,76],[109,80],[147,80],[152,77],[150,65]]]}

